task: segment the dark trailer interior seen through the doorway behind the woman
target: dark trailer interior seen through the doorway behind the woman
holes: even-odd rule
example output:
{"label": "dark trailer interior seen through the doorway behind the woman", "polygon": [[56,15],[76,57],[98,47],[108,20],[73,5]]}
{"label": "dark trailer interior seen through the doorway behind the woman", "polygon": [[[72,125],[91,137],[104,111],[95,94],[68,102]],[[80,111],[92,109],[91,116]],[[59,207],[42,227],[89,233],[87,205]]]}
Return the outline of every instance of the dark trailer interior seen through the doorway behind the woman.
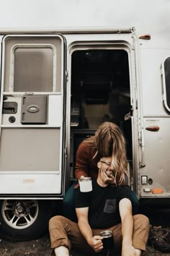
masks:
{"label": "dark trailer interior seen through the doorway behind the woman", "polygon": [[104,121],[115,122],[132,161],[130,76],[125,50],[74,51],[71,58],[71,168],[82,140]]}

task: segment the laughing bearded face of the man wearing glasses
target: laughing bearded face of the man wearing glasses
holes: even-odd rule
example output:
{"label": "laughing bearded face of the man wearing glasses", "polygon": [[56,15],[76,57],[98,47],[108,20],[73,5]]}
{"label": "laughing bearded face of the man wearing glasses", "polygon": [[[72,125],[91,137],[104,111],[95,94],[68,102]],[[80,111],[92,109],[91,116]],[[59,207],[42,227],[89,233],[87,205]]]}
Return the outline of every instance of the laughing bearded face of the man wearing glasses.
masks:
{"label": "laughing bearded face of the man wearing glasses", "polygon": [[101,158],[99,163],[99,176],[105,184],[115,184],[115,171],[112,166],[112,158]]}

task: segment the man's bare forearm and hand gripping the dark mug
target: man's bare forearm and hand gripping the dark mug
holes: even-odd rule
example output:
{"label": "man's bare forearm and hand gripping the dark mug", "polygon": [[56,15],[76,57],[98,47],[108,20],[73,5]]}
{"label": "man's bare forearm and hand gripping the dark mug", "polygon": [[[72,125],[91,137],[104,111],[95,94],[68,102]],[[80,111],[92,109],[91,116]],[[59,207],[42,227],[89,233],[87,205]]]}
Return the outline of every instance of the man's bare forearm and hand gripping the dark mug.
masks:
{"label": "man's bare forearm and hand gripping the dark mug", "polygon": [[89,246],[92,247],[95,252],[100,252],[103,248],[102,236],[93,236],[91,227],[89,226],[88,212],[89,207],[76,208],[78,226]]}

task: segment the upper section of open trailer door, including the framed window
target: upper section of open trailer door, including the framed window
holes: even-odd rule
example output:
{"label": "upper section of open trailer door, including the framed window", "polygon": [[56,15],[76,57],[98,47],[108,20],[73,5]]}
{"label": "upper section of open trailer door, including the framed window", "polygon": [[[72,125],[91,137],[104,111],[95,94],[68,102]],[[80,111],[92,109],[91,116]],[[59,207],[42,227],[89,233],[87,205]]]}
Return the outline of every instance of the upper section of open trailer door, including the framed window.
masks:
{"label": "upper section of open trailer door, including the framed window", "polygon": [[61,93],[60,35],[6,35],[2,44],[2,88],[6,93]]}

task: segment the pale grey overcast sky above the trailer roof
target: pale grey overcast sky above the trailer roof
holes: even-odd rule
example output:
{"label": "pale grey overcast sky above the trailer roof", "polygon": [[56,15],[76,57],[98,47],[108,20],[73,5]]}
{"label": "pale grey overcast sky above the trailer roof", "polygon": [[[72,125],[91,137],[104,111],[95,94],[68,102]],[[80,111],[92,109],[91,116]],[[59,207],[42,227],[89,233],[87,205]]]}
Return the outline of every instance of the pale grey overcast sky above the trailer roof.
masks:
{"label": "pale grey overcast sky above the trailer roof", "polygon": [[0,27],[132,27],[170,36],[170,0],[0,0]]}

